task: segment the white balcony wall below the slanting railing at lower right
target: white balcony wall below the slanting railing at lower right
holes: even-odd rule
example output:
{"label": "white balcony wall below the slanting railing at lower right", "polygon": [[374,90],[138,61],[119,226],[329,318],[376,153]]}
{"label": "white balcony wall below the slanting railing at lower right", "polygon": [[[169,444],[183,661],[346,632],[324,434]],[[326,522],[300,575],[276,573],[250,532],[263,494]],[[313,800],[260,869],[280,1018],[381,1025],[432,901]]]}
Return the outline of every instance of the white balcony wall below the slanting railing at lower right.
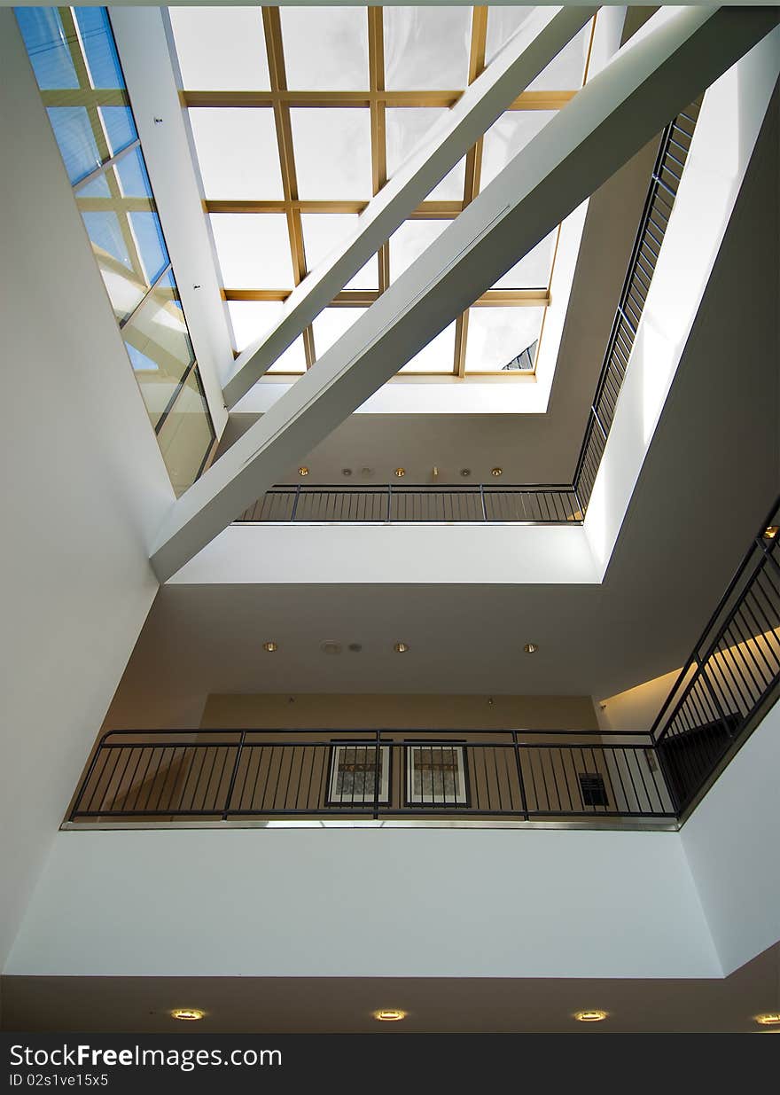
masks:
{"label": "white balcony wall below the slanting railing at lower right", "polygon": [[779,774],[776,704],[680,831],[725,973],[780,940]]}

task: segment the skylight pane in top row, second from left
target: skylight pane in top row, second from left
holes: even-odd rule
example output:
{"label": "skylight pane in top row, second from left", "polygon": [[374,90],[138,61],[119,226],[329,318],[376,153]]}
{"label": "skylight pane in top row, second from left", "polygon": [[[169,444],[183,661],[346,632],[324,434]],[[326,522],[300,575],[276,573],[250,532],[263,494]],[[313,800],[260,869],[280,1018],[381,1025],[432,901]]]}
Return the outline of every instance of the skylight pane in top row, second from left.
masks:
{"label": "skylight pane in top row, second from left", "polygon": [[365,8],[281,8],[291,91],[363,91],[369,87]]}

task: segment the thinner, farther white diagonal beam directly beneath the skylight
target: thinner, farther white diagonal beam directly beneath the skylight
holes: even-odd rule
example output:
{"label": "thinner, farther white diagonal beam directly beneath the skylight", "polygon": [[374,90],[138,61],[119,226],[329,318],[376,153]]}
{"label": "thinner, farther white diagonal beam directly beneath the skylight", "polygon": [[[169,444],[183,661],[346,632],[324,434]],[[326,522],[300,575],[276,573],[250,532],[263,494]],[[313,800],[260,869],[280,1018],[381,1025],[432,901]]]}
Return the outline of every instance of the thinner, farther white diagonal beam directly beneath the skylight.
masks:
{"label": "thinner, farther white diagonal beam directly beneath the skylight", "polygon": [[375,255],[423,198],[455,166],[514,99],[585,23],[595,8],[539,8],[442,119],[424,148],[387,182],[358,218],[354,231],[284,302],[281,318],[236,358],[224,387],[234,407],[312,320]]}

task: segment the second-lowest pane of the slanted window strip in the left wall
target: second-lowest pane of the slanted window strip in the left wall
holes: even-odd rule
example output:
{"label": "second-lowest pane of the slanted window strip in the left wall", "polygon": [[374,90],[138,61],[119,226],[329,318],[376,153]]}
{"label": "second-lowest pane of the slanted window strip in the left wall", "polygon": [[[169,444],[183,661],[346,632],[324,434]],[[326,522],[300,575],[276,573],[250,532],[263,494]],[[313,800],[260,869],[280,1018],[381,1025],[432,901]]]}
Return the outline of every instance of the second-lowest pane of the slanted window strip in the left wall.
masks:
{"label": "second-lowest pane of the slanted window strip in the left wall", "polygon": [[168,274],[121,332],[153,426],[193,361],[193,346],[177,297]]}

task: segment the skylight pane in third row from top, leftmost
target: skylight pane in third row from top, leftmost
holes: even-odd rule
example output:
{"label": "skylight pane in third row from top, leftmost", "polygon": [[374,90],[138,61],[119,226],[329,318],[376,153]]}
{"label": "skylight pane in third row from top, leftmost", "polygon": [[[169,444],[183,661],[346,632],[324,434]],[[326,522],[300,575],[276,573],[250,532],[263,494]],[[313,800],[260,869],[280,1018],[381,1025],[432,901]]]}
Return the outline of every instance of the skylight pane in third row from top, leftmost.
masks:
{"label": "skylight pane in third row from top, leftmost", "polygon": [[292,289],[290,237],[283,214],[212,214],[211,230],[226,288]]}

